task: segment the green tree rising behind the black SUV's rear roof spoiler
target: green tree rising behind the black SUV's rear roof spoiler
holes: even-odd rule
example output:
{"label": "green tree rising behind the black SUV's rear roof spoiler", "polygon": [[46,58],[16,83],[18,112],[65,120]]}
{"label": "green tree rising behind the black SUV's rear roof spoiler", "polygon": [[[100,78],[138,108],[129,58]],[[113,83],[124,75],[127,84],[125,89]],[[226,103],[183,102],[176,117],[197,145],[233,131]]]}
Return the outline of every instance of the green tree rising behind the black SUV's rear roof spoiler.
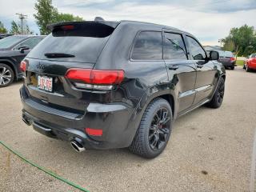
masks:
{"label": "green tree rising behind the black SUV's rear roof spoiler", "polygon": [[37,21],[41,34],[50,34],[50,30],[47,29],[47,25],[50,23],[82,21],[82,18],[73,14],[58,13],[57,8],[52,6],[51,0],[38,0],[35,3],[34,9],[37,11],[34,14],[34,18]]}

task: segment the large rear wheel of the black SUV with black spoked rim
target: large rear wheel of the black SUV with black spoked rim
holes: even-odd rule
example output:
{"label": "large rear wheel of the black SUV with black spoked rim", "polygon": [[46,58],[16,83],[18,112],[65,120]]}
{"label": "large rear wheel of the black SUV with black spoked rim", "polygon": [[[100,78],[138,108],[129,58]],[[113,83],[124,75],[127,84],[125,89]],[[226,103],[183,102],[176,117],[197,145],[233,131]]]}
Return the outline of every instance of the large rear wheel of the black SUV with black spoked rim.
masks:
{"label": "large rear wheel of the black SUV with black spoked rim", "polygon": [[[161,123],[162,122],[162,123]],[[143,158],[155,158],[166,148],[173,114],[169,102],[156,98],[146,107],[129,149]]]}

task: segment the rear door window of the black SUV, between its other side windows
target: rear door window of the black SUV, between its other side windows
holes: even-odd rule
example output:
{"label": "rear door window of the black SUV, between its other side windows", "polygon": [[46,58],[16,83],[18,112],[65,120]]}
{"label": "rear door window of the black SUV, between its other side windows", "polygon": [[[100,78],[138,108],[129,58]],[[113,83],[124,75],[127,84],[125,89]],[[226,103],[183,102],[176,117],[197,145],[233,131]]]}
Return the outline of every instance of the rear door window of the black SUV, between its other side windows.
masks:
{"label": "rear door window of the black SUV, between its other side windows", "polygon": [[165,33],[163,55],[165,59],[187,59],[181,34]]}

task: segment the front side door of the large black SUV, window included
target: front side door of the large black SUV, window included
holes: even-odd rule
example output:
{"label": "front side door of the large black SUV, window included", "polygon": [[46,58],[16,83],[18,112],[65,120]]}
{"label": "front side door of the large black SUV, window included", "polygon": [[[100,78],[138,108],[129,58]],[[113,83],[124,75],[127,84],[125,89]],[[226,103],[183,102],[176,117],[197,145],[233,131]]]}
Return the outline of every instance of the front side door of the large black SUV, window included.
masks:
{"label": "front side door of the large black SUV, window included", "polygon": [[214,76],[217,70],[214,63],[207,60],[206,51],[195,38],[186,36],[186,40],[189,45],[190,58],[193,59],[197,67],[197,78],[194,87],[196,95],[193,103],[197,105],[210,97],[214,89]]}

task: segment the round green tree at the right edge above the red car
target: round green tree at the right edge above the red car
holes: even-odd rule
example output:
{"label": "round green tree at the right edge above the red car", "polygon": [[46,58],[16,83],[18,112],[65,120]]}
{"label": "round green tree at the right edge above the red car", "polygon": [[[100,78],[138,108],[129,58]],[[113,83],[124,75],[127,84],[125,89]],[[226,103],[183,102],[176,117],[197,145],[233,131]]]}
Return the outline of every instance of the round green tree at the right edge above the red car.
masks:
{"label": "round green tree at the right edge above the red car", "polygon": [[253,26],[234,27],[223,42],[225,50],[239,55],[248,55],[256,51],[256,32]]}

